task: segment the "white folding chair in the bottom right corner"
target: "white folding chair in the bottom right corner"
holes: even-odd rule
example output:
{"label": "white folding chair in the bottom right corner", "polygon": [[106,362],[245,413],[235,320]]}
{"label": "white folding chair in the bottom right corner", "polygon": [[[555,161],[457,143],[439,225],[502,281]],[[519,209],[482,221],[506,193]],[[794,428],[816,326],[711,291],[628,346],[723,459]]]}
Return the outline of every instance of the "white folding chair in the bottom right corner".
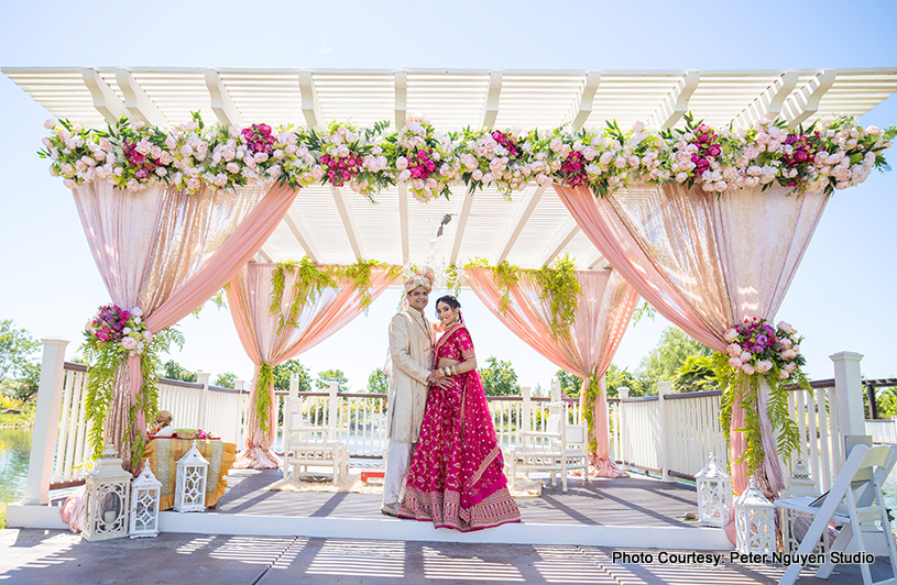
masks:
{"label": "white folding chair in the bottom right corner", "polygon": [[[897,583],[897,544],[890,531],[890,520],[885,508],[882,485],[894,464],[897,463],[897,445],[882,445],[869,449],[856,445],[828,494],[820,498],[809,496],[776,500],[776,506],[813,516],[813,521],[798,547],[798,555],[810,554],[828,529],[830,520],[843,525],[832,543],[829,558],[820,565],[817,577],[829,578],[834,563],[832,553],[867,551],[865,539],[871,536],[884,537],[893,577],[877,582]],[[876,525],[876,522],[880,522]],[[802,565],[791,563],[785,571],[779,585],[791,585],[800,574]],[[868,564],[860,564],[863,583],[873,585]]]}

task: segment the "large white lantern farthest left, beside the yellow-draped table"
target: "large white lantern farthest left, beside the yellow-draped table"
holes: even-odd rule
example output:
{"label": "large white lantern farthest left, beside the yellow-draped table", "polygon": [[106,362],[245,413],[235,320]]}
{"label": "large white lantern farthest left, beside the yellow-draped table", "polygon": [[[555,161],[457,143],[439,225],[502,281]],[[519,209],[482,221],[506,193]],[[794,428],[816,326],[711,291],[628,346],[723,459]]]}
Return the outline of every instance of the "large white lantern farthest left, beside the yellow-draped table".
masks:
{"label": "large white lantern farthest left, beside the yellow-draped table", "polygon": [[84,522],[85,540],[108,540],[128,536],[128,496],[131,474],[121,468],[114,445],[106,450],[85,477],[87,516]]}

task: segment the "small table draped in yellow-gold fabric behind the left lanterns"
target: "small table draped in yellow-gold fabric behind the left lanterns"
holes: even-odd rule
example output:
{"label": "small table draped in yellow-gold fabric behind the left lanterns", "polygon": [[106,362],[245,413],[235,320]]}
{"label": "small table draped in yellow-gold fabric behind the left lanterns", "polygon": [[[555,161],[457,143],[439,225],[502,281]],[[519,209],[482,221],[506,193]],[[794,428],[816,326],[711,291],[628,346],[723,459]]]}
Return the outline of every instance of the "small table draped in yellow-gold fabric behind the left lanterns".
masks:
{"label": "small table draped in yellow-gold fabric behind the left lanterns", "polygon": [[220,439],[176,439],[158,438],[150,440],[143,456],[150,470],[162,482],[158,509],[168,510],[174,506],[174,488],[177,479],[177,460],[189,451],[196,441],[199,454],[209,462],[206,476],[206,507],[215,507],[218,498],[225,495],[228,487],[225,476],[237,459],[237,445],[225,443]]}

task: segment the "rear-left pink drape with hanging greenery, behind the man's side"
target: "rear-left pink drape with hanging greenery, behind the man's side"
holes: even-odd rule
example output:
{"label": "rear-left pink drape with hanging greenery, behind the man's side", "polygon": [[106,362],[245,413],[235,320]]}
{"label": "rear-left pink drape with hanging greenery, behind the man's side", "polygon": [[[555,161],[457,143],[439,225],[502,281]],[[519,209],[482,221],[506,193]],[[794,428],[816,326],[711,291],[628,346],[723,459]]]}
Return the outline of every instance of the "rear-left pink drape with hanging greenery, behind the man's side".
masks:
{"label": "rear-left pink drape with hanging greenery, behind the man's side", "polygon": [[[338,283],[338,288],[326,288],[309,305],[302,307],[296,323],[285,324],[278,330],[281,314],[289,311],[295,299],[293,290],[296,274],[286,273],[281,307],[272,312],[272,276],[276,264],[250,262],[231,279],[227,289],[237,334],[249,358],[255,364],[255,380],[259,380],[263,364],[276,366],[307,351],[339,329],[348,324],[361,312],[361,296],[350,279]],[[371,272],[371,299],[376,299],[392,283],[385,271]],[[271,445],[277,435],[276,400],[274,385],[259,388],[253,385],[249,404],[255,405],[256,393],[269,394],[271,408],[267,412],[267,431],[262,430],[255,408],[249,408],[247,418],[245,449],[237,457],[234,467],[256,470],[273,468],[280,465]]]}

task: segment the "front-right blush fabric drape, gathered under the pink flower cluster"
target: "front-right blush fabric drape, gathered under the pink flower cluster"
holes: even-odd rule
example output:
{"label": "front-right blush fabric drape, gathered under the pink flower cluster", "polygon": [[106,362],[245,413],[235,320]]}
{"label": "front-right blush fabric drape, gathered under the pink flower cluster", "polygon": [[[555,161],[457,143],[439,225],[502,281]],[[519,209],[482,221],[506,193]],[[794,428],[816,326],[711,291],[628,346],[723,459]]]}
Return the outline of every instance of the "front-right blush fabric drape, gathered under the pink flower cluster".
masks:
{"label": "front-right blush fabric drape, gathered under the pink flower cluster", "polygon": [[[654,308],[686,333],[723,351],[723,333],[745,318],[773,321],[828,201],[822,194],[789,196],[784,187],[710,194],[679,185],[635,185],[609,197],[555,185],[582,231]],[[766,401],[765,386],[761,404]],[[761,409],[765,477],[784,488],[772,424]],[[732,429],[744,423],[736,407]],[[730,457],[744,452],[732,433]],[[733,465],[733,486],[747,485],[746,465]]]}

